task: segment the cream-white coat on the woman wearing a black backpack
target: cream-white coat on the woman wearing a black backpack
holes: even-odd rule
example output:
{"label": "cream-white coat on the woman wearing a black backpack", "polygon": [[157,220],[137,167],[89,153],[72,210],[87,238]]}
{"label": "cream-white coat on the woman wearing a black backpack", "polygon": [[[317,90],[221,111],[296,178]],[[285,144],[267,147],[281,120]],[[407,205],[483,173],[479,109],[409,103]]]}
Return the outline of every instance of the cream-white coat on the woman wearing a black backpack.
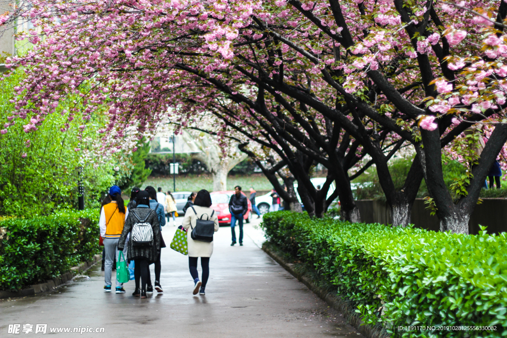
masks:
{"label": "cream-white coat on the woman wearing a black backpack", "polygon": [[[192,233],[192,228],[195,228],[197,218],[200,218],[202,214],[207,214],[209,220],[215,222],[215,232],[219,231],[219,218],[216,215],[216,212],[213,213],[213,209],[211,208],[194,205],[194,209],[197,212],[197,215],[192,208],[188,208],[182,223],[183,228],[187,230],[189,257],[211,257],[211,254],[213,253],[213,242],[207,243],[194,241],[190,234]],[[211,213],[213,213],[213,217],[210,217]],[[203,219],[206,219],[206,215],[204,215]],[[190,224],[192,224],[192,228],[190,227]]]}

